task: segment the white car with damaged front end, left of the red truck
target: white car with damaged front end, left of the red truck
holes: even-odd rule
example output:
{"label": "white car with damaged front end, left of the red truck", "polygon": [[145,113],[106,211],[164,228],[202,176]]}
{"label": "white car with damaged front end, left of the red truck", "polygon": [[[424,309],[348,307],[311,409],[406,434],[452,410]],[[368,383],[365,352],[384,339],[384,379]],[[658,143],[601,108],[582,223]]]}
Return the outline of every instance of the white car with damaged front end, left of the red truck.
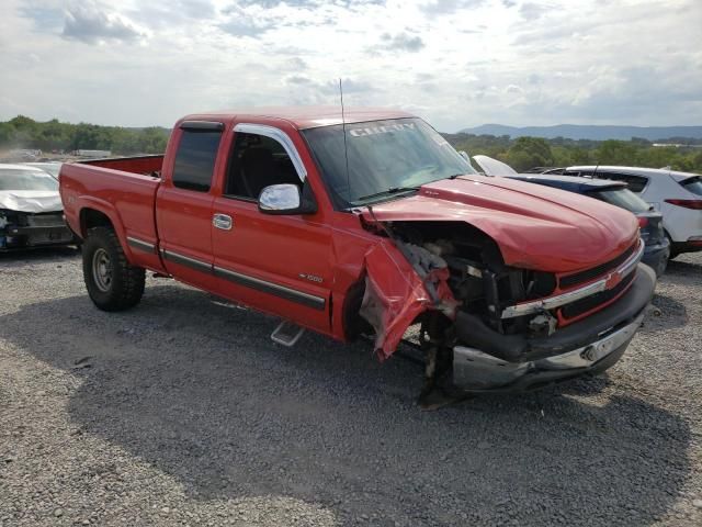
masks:
{"label": "white car with damaged front end, left of the red truck", "polygon": [[75,243],[58,181],[38,168],[0,165],[0,251]]}

